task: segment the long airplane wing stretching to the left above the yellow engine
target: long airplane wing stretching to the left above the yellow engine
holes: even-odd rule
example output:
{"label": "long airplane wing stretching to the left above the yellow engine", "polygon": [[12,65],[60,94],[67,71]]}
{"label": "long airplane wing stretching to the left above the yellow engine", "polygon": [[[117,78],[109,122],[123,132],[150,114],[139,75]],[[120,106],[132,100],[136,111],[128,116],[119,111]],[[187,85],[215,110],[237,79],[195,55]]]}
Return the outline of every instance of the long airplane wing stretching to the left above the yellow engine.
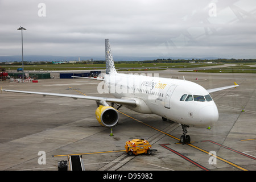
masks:
{"label": "long airplane wing stretching to the left above the yellow engine", "polygon": [[77,100],[77,98],[86,99],[86,100],[94,100],[94,101],[106,101],[106,102],[115,102],[123,105],[136,106],[135,100],[125,100],[121,98],[110,98],[110,97],[94,97],[94,96],[81,96],[75,94],[61,94],[61,93],[46,93],[46,92],[29,92],[29,91],[20,91],[20,90],[5,90],[1,88],[1,92],[16,92],[16,93],[27,93],[27,94],[39,94],[46,96],[57,96],[57,97],[69,97]]}

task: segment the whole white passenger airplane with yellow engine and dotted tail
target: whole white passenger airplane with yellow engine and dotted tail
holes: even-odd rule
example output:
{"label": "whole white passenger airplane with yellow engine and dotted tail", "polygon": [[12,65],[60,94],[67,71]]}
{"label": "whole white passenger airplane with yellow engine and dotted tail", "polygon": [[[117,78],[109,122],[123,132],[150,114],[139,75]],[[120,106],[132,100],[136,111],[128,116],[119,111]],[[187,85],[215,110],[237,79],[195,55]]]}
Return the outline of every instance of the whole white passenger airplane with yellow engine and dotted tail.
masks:
{"label": "whole white passenger airplane with yellow engine and dotted tail", "polygon": [[[187,127],[208,127],[218,120],[218,109],[209,93],[239,86],[234,82],[231,86],[206,90],[187,80],[117,73],[108,39],[105,39],[105,51],[106,74],[104,78],[94,79],[103,80],[105,89],[115,98],[6,89],[2,91],[94,100],[98,106],[96,118],[105,127],[117,125],[117,109],[122,105],[138,113],[156,114],[163,120],[170,119],[180,123],[183,129],[180,142],[189,143],[191,138],[187,135]],[[110,102],[110,106],[107,102]],[[114,104],[119,104],[119,107],[115,109]]]}

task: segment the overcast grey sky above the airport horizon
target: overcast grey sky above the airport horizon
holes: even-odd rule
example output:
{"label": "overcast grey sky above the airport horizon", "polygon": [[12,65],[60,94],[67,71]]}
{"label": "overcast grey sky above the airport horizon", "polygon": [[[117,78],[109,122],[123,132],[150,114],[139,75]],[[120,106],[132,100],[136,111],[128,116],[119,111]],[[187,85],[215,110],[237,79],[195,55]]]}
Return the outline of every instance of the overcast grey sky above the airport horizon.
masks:
{"label": "overcast grey sky above the airport horizon", "polygon": [[0,0],[0,56],[256,59],[255,0]]}

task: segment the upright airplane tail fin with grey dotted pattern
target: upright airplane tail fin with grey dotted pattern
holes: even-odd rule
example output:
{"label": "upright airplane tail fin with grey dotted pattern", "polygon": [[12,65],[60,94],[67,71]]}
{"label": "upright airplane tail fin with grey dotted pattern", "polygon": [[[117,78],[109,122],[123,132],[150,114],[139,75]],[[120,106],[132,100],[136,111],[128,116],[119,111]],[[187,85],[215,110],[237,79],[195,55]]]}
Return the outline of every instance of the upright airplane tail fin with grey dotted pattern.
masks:
{"label": "upright airplane tail fin with grey dotted pattern", "polygon": [[105,39],[106,74],[116,73],[113,56],[110,49],[109,39]]}

